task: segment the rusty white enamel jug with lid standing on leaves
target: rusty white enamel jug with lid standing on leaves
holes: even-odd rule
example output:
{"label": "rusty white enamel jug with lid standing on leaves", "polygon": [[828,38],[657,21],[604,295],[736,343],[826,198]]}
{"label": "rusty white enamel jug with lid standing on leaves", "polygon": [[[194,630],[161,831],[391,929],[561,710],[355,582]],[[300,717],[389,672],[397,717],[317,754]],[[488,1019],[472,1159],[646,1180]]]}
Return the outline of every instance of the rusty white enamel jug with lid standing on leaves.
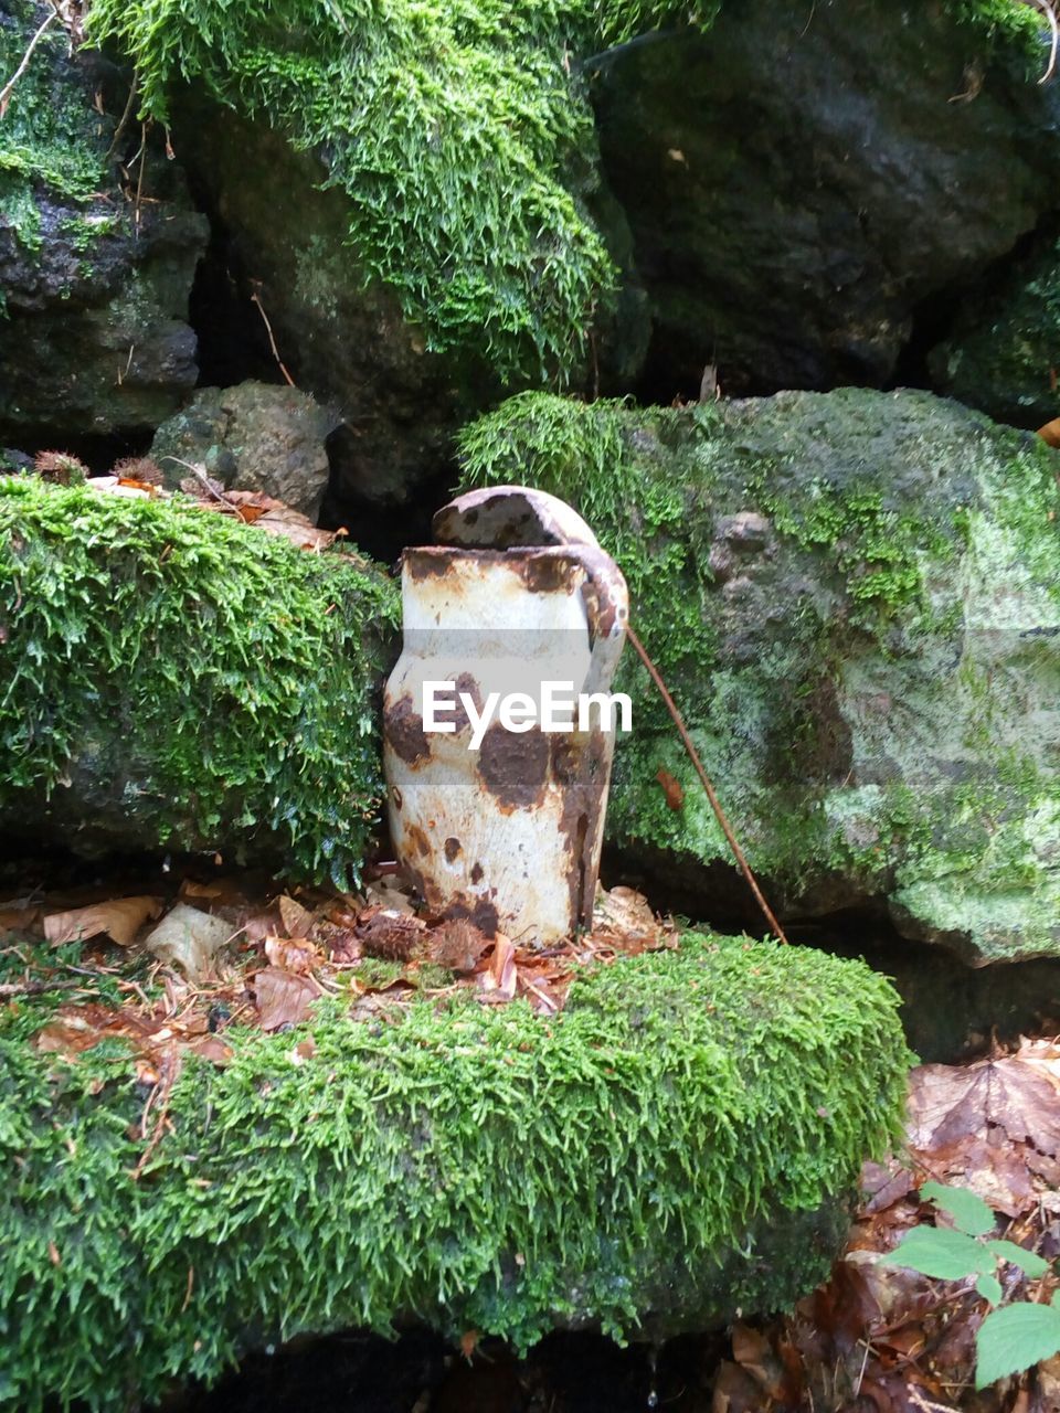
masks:
{"label": "rusty white enamel jug with lid standing on leaves", "polygon": [[471,492],[434,531],[437,545],[403,557],[404,643],[384,697],[394,849],[435,914],[550,942],[592,913],[628,718],[611,694],[626,584],[543,492]]}

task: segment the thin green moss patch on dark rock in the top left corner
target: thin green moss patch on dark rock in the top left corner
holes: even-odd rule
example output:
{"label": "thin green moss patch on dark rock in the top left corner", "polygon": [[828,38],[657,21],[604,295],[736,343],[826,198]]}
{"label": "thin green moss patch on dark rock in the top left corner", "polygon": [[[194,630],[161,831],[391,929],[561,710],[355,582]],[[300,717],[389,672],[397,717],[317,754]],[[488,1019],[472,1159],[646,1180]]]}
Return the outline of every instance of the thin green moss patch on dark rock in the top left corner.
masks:
{"label": "thin green moss patch on dark rock in the top left corner", "polygon": [[[0,24],[0,83],[17,69],[48,11],[31,0],[13,0],[7,13],[8,23]],[[68,48],[65,30],[52,25],[11,90],[0,127],[0,215],[28,249],[41,243],[41,187],[57,199],[85,202],[109,185],[106,144],[89,93],[76,82],[61,85],[55,79],[55,65]]]}

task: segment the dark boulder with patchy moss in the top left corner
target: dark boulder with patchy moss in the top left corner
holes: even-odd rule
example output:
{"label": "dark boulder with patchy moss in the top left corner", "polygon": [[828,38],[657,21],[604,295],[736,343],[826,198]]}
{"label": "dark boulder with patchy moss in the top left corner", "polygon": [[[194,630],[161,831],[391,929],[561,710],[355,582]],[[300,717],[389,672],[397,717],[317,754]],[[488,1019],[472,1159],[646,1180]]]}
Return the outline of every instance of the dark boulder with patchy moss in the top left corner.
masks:
{"label": "dark boulder with patchy moss in the top left corner", "polygon": [[[52,13],[0,6],[0,73]],[[139,124],[143,165],[117,179],[103,88],[55,25],[0,129],[0,438],[16,444],[151,428],[195,386],[188,297],[206,222]]]}

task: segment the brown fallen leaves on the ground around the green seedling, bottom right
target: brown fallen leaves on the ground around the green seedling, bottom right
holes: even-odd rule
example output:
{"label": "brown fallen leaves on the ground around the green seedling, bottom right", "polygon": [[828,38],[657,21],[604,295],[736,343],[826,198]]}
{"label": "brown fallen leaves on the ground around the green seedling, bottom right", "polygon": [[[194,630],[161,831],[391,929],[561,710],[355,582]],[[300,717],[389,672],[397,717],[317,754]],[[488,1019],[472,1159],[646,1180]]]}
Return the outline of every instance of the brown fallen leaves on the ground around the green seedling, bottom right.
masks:
{"label": "brown fallen leaves on the ground around the green seedling, bottom right", "polygon": [[[712,1413],[1059,1413],[1060,1356],[975,1390],[975,1337],[991,1307],[974,1276],[931,1280],[881,1263],[912,1228],[950,1226],[929,1201],[933,1184],[978,1194],[996,1214],[995,1236],[1053,1260],[1059,1178],[1060,1040],[919,1065],[905,1145],[865,1164],[831,1279],[790,1316],[734,1328]],[[999,1276],[1005,1300],[1047,1304],[1057,1289],[1052,1269],[1030,1279],[1005,1265]]]}

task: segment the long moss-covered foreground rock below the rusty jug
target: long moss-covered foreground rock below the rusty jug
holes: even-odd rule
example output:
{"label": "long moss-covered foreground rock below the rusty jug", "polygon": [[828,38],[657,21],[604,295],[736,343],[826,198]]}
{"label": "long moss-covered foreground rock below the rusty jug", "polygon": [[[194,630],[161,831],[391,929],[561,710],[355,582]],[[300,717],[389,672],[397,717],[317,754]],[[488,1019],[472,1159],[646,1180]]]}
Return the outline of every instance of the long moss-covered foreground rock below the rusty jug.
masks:
{"label": "long moss-covered foreground rock below the rusty jug", "polygon": [[[20,962],[21,965],[21,962]],[[114,1043],[0,1031],[0,1406],[124,1409],[300,1332],[704,1328],[827,1272],[909,1056],[858,962],[690,935],[523,1002],[322,1003],[189,1061],[139,1180]],[[298,1048],[295,1048],[298,1046]]]}

